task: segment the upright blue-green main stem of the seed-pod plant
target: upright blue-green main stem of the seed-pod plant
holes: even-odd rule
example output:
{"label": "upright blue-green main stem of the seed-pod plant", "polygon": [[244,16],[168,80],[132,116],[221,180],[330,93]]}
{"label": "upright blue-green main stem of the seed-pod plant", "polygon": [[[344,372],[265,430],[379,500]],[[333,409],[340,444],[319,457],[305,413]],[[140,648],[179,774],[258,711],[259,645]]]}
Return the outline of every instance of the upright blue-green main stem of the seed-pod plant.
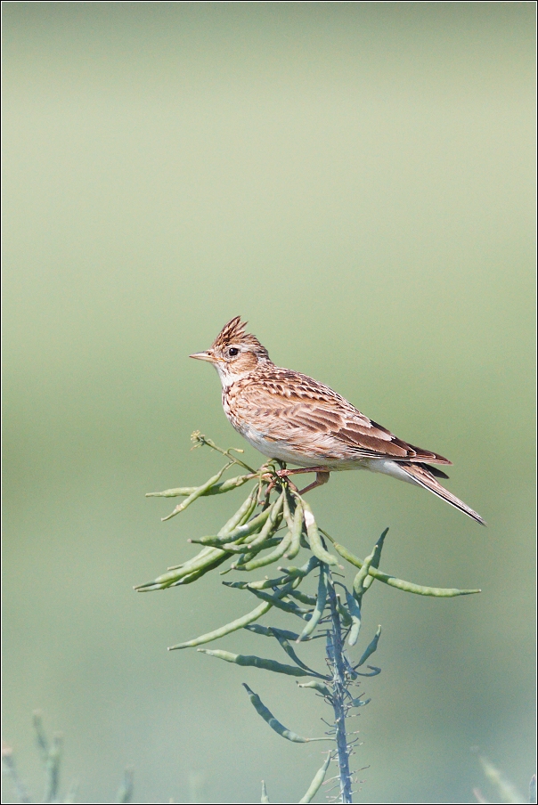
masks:
{"label": "upright blue-green main stem of the seed-pod plant", "polygon": [[332,579],[329,577],[327,593],[330,606],[330,630],[327,632],[327,656],[332,666],[332,707],[338,752],[340,777],[340,798],[342,802],[353,802],[351,774],[349,771],[350,747],[346,735],[346,663],[343,655],[342,627],[338,613],[338,601]]}

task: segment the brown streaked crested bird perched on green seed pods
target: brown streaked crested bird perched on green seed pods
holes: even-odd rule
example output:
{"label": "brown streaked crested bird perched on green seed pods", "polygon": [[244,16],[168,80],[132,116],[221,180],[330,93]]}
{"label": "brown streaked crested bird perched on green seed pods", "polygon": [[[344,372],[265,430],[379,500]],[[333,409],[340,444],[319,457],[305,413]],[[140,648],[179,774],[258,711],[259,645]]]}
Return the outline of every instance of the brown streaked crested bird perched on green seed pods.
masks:
{"label": "brown streaked crested bird perched on green seed pods", "polygon": [[432,465],[452,461],[399,439],[330,386],[276,366],[246,326],[235,316],[208,350],[189,357],[216,368],[224,413],[247,442],[268,459],[298,465],[281,468],[277,475],[315,472],[314,483],[300,492],[304,494],[326,484],[331,472],[368,469],[421,486],[485,525],[437,480],[448,476]]}

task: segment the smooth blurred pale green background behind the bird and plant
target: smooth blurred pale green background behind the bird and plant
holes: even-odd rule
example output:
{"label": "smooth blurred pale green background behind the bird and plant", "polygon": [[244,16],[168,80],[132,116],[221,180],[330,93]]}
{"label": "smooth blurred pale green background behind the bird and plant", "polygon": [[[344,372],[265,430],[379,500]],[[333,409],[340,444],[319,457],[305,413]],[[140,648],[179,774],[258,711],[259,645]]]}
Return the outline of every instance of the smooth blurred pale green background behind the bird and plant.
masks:
{"label": "smooth blurred pale green background behind the bird and plant", "polygon": [[[161,524],[171,501],[144,499],[220,466],[192,430],[241,446],[187,357],[236,314],[274,362],[452,459],[450,489],[489,523],[366,473],[312,495],[360,556],[390,526],[385,570],[484,590],[372,590],[383,672],[352,722],[357,801],[490,793],[472,747],[525,791],[534,4],[2,5],[4,739],[35,796],[35,708],[79,801],[110,801],[127,763],[139,802],[257,801],[262,778],[298,801],[320,765],[240,687],[317,735],[327,712],[293,680],[167,654],[245,594],[217,575],[132,590],[241,500]],[[220,645],[270,655],[259,639]]]}

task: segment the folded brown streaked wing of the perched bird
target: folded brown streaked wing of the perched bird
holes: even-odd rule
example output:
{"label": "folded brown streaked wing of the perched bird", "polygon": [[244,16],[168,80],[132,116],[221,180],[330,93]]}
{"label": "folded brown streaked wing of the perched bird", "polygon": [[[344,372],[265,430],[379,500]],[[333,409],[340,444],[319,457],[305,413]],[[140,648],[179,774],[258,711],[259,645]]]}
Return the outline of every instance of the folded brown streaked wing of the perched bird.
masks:
{"label": "folded brown streaked wing of the perched bird", "polygon": [[263,378],[237,384],[240,418],[266,438],[326,459],[391,458],[451,464],[434,452],[403,442],[355,406],[312,378],[268,367]]}

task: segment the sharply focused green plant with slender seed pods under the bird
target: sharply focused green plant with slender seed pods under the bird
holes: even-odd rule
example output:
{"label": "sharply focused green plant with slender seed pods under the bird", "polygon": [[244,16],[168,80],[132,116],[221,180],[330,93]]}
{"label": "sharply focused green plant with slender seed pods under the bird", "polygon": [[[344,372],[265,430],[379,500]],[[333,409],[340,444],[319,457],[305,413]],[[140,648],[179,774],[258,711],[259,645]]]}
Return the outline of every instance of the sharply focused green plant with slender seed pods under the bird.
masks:
{"label": "sharply focused green plant with slender seed pods under the bird", "polygon": [[[197,647],[203,654],[227,663],[253,666],[304,679],[299,687],[314,690],[332,709],[330,728],[324,736],[315,738],[299,736],[277,720],[273,712],[249,686],[244,687],[257,713],[281,737],[301,744],[311,741],[330,741],[333,744],[322,768],[318,770],[300,801],[310,802],[314,799],[323,783],[330,761],[335,760],[338,764],[338,775],[333,779],[338,780],[339,793],[334,799],[351,802],[353,775],[349,759],[354,751],[355,739],[349,736],[346,719],[349,711],[362,707],[370,701],[353,695],[353,688],[360,684],[361,678],[375,676],[380,672],[379,667],[374,665],[366,665],[367,671],[359,671],[364,668],[366,661],[378,647],[380,626],[363,650],[358,662],[353,663],[349,659],[348,650],[345,649],[345,644],[355,646],[359,638],[364,595],[370,590],[373,581],[381,581],[397,590],[416,595],[438,598],[470,595],[480,590],[424,587],[383,573],[379,570],[379,562],[388,529],[381,534],[371,554],[365,559],[360,559],[318,526],[312,508],[299,494],[297,487],[289,478],[277,475],[279,469],[285,468],[281,462],[269,461],[262,467],[254,469],[237,455],[242,451],[223,450],[199,432],[192,434],[192,442],[194,447],[205,445],[221,453],[227,462],[215,476],[200,486],[150,492],[148,497],[185,498],[168,516],[163,517],[163,520],[178,515],[195,500],[232,492],[251,481],[254,484],[240,508],[217,533],[190,540],[201,546],[196,556],[181,565],[169,567],[166,573],[162,573],[153,581],[138,585],[135,590],[148,592],[183,587],[222,567],[224,563],[228,564],[220,571],[221,575],[232,571],[246,575],[245,580],[223,581],[223,583],[232,589],[244,590],[254,596],[258,602],[254,609],[207,634],[170,646],[169,650]],[[222,480],[225,471],[234,465],[242,468],[243,473]],[[258,507],[261,508],[259,512]],[[328,546],[335,553],[331,553]],[[284,560],[288,563],[295,560],[301,550],[306,551],[306,562],[302,565],[278,564]],[[344,570],[343,565],[339,564],[340,559],[346,560],[346,563],[357,571],[351,589],[348,589],[343,581],[338,581],[338,576],[341,577],[338,571]],[[249,581],[251,573],[269,565],[277,565],[279,574],[273,578],[265,576],[256,581]],[[315,575],[317,575],[315,591],[306,591],[305,582],[313,579]],[[260,618],[272,609],[284,611],[289,614],[290,619],[292,616],[298,618],[302,628],[297,631],[281,630],[260,624],[258,622]],[[240,629],[273,638],[290,662],[279,663],[259,655],[236,655],[224,649],[200,648]],[[299,658],[296,651],[301,643],[320,637],[325,638],[326,671],[309,667]],[[269,801],[265,784],[262,785],[262,801]]]}

